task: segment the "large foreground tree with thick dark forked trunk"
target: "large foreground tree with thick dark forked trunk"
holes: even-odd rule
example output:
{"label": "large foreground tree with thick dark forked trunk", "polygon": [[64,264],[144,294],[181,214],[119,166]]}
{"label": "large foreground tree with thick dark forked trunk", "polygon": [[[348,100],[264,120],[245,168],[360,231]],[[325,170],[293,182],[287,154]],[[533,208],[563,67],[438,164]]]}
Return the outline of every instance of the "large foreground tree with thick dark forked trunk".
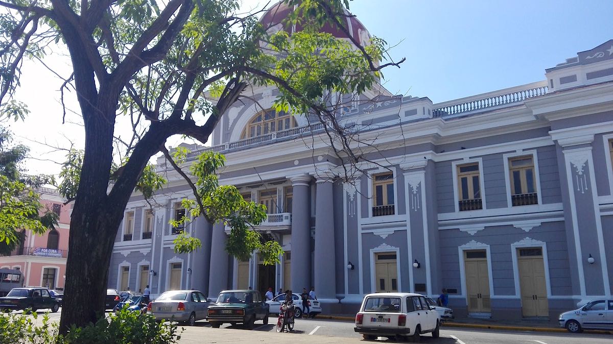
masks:
{"label": "large foreground tree with thick dark forked trunk", "polygon": [[[1,113],[13,118],[26,113],[12,99],[23,58],[66,47],[73,73],[62,87],[75,89],[83,117],[86,138],[72,195],[61,333],[70,324],[83,326],[104,314],[104,281],[124,208],[148,160],[166,151],[167,138],[178,134],[207,143],[221,114],[245,97],[248,85],[275,86],[278,110],[314,114],[327,133],[341,132],[322,95],[365,91],[383,67],[398,65],[378,65],[385,53],[383,40],[373,38],[362,47],[352,38],[343,24],[350,15],[348,0],[286,2],[295,7],[287,24],[302,27],[292,35],[268,32],[257,19],[262,11],[239,13],[237,0],[0,0],[8,13],[0,18]],[[351,42],[319,32],[324,24],[337,26]],[[128,159],[114,170],[120,115],[131,118],[134,140],[123,142]],[[338,141],[338,151],[349,146]],[[219,158],[201,159],[203,166],[211,166]],[[198,193],[199,185],[194,187]],[[200,195],[206,198],[211,190]],[[238,201],[232,190],[224,196]],[[257,217],[257,209],[252,210]],[[200,209],[200,214],[208,211]],[[233,228],[230,242],[237,233],[242,230]],[[238,247],[238,252],[232,252],[232,245],[227,249],[240,255]]]}

